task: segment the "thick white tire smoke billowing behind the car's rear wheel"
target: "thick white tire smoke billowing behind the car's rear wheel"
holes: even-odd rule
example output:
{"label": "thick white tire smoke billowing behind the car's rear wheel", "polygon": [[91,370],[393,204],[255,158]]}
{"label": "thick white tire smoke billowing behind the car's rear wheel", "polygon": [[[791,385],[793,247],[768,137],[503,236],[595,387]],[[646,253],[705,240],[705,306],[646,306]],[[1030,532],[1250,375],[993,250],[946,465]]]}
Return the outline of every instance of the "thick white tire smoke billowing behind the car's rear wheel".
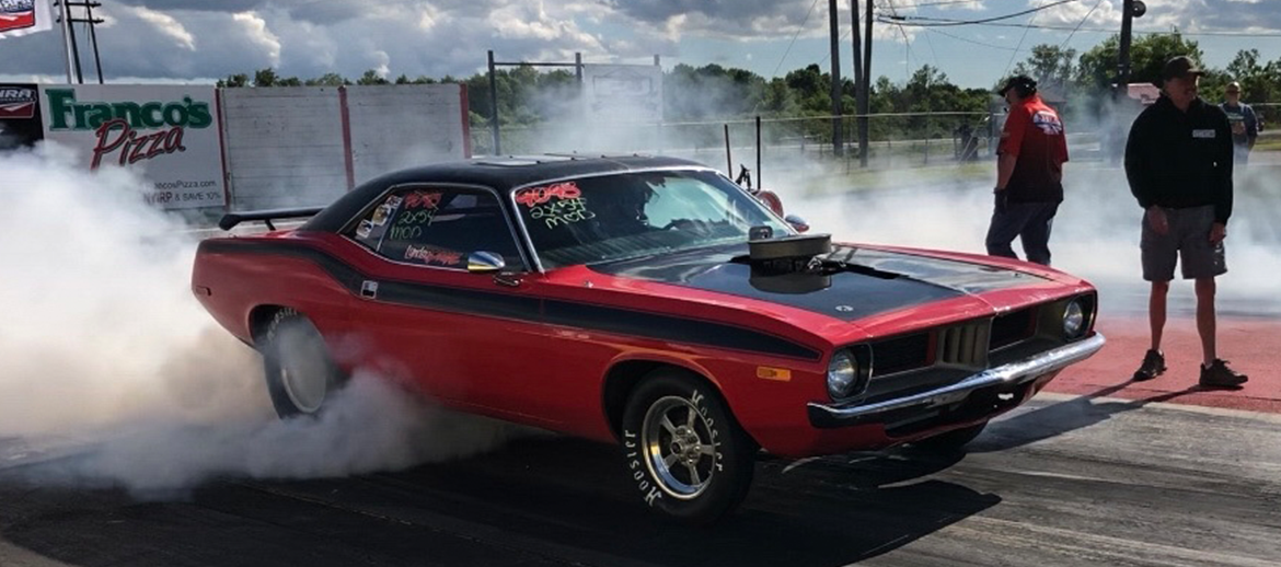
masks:
{"label": "thick white tire smoke billowing behind the car's rear wheel", "polygon": [[190,292],[197,239],[128,172],[0,154],[0,475],[169,494],[213,477],[398,470],[497,447],[357,372],[319,419],[279,421],[257,355]]}

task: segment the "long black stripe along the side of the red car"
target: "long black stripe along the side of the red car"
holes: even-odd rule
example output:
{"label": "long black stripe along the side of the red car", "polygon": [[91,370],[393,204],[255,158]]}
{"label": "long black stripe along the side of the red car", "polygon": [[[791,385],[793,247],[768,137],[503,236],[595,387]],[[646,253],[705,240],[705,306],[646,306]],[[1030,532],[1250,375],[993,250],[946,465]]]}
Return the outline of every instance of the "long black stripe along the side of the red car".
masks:
{"label": "long black stripe along the side of the red car", "polygon": [[[360,294],[360,287],[366,279],[378,280],[377,301],[386,303],[565,325],[669,340],[673,343],[705,344],[708,347],[793,358],[819,360],[821,357],[819,351],[797,342],[722,323],[589,303],[574,303],[562,299],[539,299],[500,292],[482,292],[477,289],[370,278],[338,257],[306,244],[255,241],[204,241],[200,243],[200,252],[254,253],[304,259],[320,266],[320,269],[354,296]],[[544,310],[543,314],[539,314],[541,306]]]}

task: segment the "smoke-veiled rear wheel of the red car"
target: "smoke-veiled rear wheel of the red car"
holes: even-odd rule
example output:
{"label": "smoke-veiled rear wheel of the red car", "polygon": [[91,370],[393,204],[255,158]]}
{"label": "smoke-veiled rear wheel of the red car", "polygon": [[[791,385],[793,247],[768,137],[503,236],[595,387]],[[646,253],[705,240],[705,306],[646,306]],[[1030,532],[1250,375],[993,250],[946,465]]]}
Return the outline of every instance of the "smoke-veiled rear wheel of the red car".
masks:
{"label": "smoke-veiled rear wheel of the red car", "polygon": [[260,351],[266,390],[281,417],[319,413],[343,381],[320,331],[292,308],[272,316]]}

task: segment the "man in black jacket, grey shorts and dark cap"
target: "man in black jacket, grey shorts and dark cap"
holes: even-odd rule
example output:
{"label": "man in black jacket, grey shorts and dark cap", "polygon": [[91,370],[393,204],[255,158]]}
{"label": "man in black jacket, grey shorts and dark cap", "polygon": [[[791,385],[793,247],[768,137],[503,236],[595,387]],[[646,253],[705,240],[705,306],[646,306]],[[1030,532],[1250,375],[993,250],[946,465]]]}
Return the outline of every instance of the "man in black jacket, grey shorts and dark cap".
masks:
{"label": "man in black jacket, grey shorts and dark cap", "polygon": [[1232,215],[1232,131],[1227,115],[1196,96],[1202,70],[1185,56],[1162,70],[1161,99],[1135,119],[1125,150],[1130,191],[1144,209],[1143,278],[1152,282],[1152,348],[1134,374],[1150,380],[1166,370],[1161,334],[1175,264],[1196,280],[1200,384],[1240,388],[1246,376],[1216,355],[1214,278],[1227,271],[1223,238]]}

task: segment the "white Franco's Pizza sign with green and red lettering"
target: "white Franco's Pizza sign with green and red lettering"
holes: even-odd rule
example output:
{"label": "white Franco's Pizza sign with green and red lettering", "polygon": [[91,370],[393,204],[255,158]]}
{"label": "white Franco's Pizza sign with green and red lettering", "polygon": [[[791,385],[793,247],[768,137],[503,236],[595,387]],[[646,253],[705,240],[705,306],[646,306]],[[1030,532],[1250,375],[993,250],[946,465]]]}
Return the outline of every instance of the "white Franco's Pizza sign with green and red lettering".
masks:
{"label": "white Franco's Pizza sign with green and red lettering", "polygon": [[215,96],[213,86],[42,84],[40,110],[45,140],[79,150],[88,169],[137,170],[156,206],[222,207]]}

